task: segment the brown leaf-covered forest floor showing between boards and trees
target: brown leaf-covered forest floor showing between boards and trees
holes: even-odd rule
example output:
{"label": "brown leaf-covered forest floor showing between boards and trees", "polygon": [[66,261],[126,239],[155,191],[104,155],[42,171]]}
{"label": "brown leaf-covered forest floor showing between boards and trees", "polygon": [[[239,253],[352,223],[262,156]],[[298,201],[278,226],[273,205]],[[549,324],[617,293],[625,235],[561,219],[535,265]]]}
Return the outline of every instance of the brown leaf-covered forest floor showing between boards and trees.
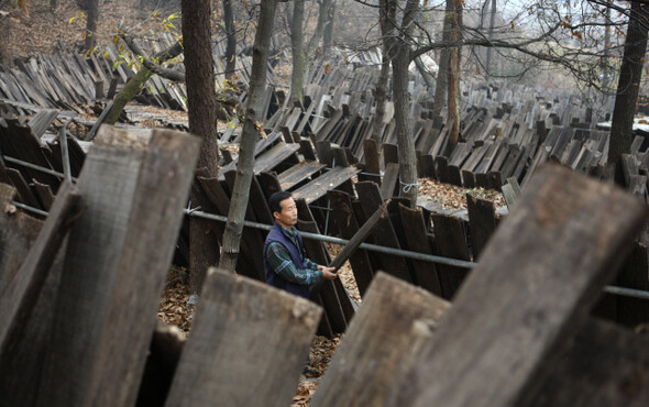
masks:
{"label": "brown leaf-covered forest floor showing between boards and trees", "polygon": [[[20,0],[20,3],[24,2]],[[68,51],[79,51],[81,48],[85,16],[81,14],[76,1],[57,0],[56,10],[52,11],[47,1],[36,2],[32,0],[28,2],[29,15],[16,8],[18,3],[18,1],[12,0],[0,0],[0,31],[8,33],[0,44],[0,63],[12,64],[14,59],[25,59],[38,54],[53,54],[61,48]],[[168,1],[165,4],[167,10],[163,11],[161,15],[168,15],[168,13],[179,9],[178,1]],[[160,18],[153,18],[151,13],[146,15],[140,9],[139,1],[100,1],[97,42],[101,44],[112,41],[120,26],[134,34],[145,33],[148,29],[160,28]],[[289,75],[289,69],[287,73],[284,74]],[[184,112],[165,111],[164,109],[141,106],[139,109],[155,111],[156,114],[173,118],[174,120],[186,120],[186,113]],[[144,122],[139,123],[139,125],[154,127],[155,123]],[[431,179],[420,179],[420,195],[440,202],[446,208],[464,208],[466,193],[468,190],[463,188],[440,184]],[[472,190],[472,193],[494,201],[496,208],[504,205],[503,196],[497,191]],[[340,245],[328,243],[328,250],[332,257],[341,249]],[[349,262],[340,270],[339,275],[350,296],[361,302],[362,299]],[[187,271],[172,267],[158,309],[158,319],[177,326],[186,337],[190,334],[191,317],[195,312],[195,306],[187,304],[190,295],[187,283]],[[314,338],[310,348],[310,367],[317,372],[317,375],[316,377],[301,377],[293,406],[308,406],[319,380],[327,370],[341,339],[342,336],[340,334],[332,339],[319,336]]]}

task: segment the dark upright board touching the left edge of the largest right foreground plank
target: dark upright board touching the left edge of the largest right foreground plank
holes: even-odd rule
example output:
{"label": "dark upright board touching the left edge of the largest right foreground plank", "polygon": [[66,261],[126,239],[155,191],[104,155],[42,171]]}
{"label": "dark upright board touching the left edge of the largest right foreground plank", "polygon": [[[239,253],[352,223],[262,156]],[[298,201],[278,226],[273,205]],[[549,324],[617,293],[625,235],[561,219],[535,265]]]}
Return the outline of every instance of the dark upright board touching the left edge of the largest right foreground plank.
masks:
{"label": "dark upright board touching the left edge of the largest right foreground plank", "polygon": [[496,230],[496,212],[493,202],[481,199],[473,194],[466,194],[466,209],[469,211],[471,251],[473,261],[476,262],[480,258],[480,253],[482,253],[491,235]]}

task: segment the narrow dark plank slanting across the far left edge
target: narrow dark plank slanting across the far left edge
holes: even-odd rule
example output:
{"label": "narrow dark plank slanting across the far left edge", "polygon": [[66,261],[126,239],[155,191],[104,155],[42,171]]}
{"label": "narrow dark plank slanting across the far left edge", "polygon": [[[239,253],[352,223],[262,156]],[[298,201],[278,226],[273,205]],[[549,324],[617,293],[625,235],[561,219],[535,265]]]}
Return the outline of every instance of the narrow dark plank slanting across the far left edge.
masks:
{"label": "narrow dark plank slanting across the far left edge", "polygon": [[70,184],[64,184],[47,216],[38,238],[30,249],[19,272],[0,289],[0,359],[11,353],[30,319],[65,235],[82,211],[80,196]]}

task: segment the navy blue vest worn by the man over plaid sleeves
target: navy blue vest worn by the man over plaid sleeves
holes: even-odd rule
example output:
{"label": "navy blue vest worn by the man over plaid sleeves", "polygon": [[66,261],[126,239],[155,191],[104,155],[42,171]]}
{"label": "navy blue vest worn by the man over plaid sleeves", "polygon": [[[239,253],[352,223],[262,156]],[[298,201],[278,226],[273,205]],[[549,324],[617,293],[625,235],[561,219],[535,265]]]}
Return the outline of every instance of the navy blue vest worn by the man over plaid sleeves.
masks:
{"label": "navy blue vest worn by the man over plaid sleeves", "polygon": [[304,264],[304,245],[302,245],[302,238],[297,232],[297,241],[299,243],[299,248],[293,243],[290,238],[287,238],[284,232],[282,231],[282,226],[279,223],[275,223],[275,227],[271,229],[268,235],[266,237],[266,241],[264,243],[264,272],[266,274],[266,284],[272,285],[273,287],[277,287],[280,289],[285,289],[290,294],[295,294],[296,296],[300,296],[302,298],[309,298],[309,286],[306,284],[295,284],[282,278],[268,264],[266,260],[266,249],[268,249],[268,244],[271,242],[278,242],[280,243],[286,250],[288,254],[290,254],[290,260],[293,260],[293,264],[299,270],[305,268]]}

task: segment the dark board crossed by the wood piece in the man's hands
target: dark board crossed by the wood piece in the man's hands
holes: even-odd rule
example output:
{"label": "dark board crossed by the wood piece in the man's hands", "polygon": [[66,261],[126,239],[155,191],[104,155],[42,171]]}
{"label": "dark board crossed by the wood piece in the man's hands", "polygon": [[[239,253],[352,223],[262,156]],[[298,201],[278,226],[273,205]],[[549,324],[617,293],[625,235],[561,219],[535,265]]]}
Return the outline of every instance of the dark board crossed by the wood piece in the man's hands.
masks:
{"label": "dark board crossed by the wood piece in the man's hands", "polygon": [[[352,239],[360,227],[354,216],[349,194],[330,190],[327,193],[327,196],[331,201],[331,216],[336,221],[341,238],[346,240]],[[374,275],[372,265],[370,264],[369,253],[362,249],[354,252],[350,257],[350,265],[352,266],[359,293],[361,297],[364,297]]]}

